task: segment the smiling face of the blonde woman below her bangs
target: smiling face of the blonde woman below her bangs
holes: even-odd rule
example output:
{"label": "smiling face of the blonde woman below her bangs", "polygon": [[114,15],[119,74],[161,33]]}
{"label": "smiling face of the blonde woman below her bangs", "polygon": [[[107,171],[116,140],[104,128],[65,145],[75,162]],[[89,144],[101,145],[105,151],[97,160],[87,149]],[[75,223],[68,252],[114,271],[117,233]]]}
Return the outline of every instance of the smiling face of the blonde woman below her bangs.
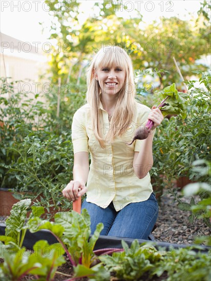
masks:
{"label": "smiling face of the blonde woman below her bangs", "polygon": [[125,71],[121,66],[101,66],[95,78],[99,82],[102,95],[115,95],[119,92],[125,81]]}

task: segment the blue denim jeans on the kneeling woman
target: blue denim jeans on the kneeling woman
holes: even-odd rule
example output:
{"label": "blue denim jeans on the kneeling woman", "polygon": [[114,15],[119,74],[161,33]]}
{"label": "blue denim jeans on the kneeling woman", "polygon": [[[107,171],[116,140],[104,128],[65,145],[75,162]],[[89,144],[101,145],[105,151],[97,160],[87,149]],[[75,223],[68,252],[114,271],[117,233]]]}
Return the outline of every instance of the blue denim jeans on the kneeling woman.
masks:
{"label": "blue denim jeans on the kneeling woman", "polygon": [[118,212],[113,202],[106,208],[83,201],[81,209],[86,208],[91,219],[93,234],[99,222],[104,228],[100,235],[148,240],[158,217],[158,203],[152,193],[146,201],[130,203]]}

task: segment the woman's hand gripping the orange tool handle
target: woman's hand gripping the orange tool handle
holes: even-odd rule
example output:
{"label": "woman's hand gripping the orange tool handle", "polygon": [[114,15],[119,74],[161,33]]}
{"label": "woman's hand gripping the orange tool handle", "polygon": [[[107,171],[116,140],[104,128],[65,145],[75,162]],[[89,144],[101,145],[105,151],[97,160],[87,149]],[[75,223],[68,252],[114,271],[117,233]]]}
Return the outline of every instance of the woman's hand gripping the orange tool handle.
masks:
{"label": "woman's hand gripping the orange tool handle", "polygon": [[75,201],[87,192],[86,184],[83,181],[71,180],[62,191],[64,197],[70,201]]}

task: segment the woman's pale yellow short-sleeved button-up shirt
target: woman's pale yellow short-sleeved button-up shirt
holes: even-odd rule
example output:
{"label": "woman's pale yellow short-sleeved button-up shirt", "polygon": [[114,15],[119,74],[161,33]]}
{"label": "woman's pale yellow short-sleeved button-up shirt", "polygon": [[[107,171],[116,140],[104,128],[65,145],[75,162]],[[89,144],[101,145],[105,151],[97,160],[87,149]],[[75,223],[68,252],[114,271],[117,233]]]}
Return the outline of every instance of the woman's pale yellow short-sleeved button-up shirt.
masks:
{"label": "woman's pale yellow short-sleeved button-up shirt", "polygon": [[[113,142],[106,142],[101,148],[91,128],[89,104],[80,107],[73,116],[72,143],[74,153],[88,152],[91,165],[87,181],[87,201],[106,208],[113,201],[118,211],[132,202],[147,200],[153,192],[150,174],[139,179],[133,168],[134,151],[139,151],[143,140],[131,143],[138,126],[145,124],[151,109],[136,103],[134,120],[126,132],[116,136]],[[102,110],[101,135],[106,137],[110,123],[108,112]],[[140,165],[141,166],[141,165]],[[140,167],[141,168],[141,167]]]}

